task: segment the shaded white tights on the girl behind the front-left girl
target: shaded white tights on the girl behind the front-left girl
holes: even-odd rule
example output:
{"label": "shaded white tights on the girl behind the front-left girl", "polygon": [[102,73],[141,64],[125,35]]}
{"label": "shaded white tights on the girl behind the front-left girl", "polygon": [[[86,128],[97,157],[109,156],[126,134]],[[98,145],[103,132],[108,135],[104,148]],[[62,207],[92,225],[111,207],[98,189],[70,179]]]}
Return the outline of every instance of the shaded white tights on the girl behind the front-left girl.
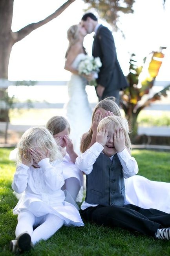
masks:
{"label": "shaded white tights on the girl behind the front-left girl", "polygon": [[73,199],[76,200],[80,190],[79,180],[75,177],[66,179],[64,186],[62,186],[62,190],[64,189],[66,189],[70,193],[71,197],[73,197]]}

